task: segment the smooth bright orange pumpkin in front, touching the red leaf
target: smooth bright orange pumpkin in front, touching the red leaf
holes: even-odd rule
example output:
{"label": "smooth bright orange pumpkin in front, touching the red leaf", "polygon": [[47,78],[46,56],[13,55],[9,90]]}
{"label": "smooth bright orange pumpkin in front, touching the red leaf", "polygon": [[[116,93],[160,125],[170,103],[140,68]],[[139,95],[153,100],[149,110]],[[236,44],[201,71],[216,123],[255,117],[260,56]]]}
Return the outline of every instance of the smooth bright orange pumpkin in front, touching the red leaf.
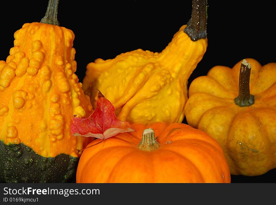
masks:
{"label": "smooth bright orange pumpkin in front, touching the red leaf", "polygon": [[88,145],[77,183],[231,182],[220,145],[203,131],[182,123],[132,126],[134,132]]}

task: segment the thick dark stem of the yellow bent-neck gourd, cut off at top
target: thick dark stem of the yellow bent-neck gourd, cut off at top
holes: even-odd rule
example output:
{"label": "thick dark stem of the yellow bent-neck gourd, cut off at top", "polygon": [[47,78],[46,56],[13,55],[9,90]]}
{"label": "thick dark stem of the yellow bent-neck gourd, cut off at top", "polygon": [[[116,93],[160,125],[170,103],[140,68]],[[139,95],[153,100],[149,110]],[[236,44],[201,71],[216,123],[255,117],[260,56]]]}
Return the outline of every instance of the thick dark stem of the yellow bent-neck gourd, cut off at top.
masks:
{"label": "thick dark stem of the yellow bent-neck gourd, cut off at top", "polygon": [[192,17],[184,28],[192,41],[207,37],[207,0],[193,0]]}

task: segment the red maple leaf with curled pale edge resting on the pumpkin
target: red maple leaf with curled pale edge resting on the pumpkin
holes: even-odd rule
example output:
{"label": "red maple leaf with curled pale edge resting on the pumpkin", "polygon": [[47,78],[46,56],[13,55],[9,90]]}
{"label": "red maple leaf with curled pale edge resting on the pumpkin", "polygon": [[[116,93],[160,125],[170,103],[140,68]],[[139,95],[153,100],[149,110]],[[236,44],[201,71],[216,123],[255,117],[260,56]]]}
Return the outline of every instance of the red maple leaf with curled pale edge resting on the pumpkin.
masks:
{"label": "red maple leaf with curled pale edge resting on the pumpkin", "polygon": [[98,90],[97,105],[88,118],[73,116],[71,133],[73,136],[107,139],[118,133],[132,132],[134,128],[127,121],[120,121],[115,115],[112,103]]}

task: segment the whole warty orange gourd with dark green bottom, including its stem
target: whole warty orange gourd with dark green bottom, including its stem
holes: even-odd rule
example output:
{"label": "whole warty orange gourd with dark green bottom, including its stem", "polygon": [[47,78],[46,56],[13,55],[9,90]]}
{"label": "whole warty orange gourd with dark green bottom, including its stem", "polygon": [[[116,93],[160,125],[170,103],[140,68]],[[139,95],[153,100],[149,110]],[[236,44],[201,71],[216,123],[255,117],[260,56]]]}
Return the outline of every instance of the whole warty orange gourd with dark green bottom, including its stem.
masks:
{"label": "whole warty orange gourd with dark green bottom, including its stem", "polygon": [[[74,33],[60,27],[57,0],[40,23],[14,33],[0,61],[0,181],[67,182],[92,138],[71,135],[73,115],[92,111],[76,71]],[[2,39],[3,40],[3,39]]]}

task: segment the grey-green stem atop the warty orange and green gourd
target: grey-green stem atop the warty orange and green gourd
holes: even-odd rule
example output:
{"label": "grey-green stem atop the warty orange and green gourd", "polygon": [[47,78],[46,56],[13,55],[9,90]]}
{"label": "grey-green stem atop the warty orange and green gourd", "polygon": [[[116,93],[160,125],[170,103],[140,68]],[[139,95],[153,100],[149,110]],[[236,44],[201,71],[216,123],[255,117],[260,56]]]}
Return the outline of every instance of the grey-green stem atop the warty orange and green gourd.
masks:
{"label": "grey-green stem atop the warty orange and green gourd", "polygon": [[41,19],[40,23],[48,23],[59,26],[57,20],[57,9],[59,0],[49,0],[45,16]]}

